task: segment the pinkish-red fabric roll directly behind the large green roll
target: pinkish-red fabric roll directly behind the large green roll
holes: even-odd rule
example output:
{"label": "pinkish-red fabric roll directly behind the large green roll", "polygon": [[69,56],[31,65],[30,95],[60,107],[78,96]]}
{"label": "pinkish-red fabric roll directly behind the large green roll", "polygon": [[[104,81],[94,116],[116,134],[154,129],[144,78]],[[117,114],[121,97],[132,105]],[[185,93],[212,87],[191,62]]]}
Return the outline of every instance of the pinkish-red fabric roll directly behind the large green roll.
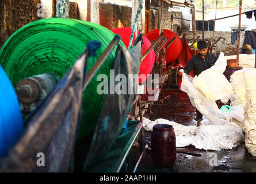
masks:
{"label": "pinkish-red fabric roll directly behind the large green roll", "polygon": [[[128,49],[129,41],[130,41],[131,34],[132,34],[132,29],[131,28],[116,28],[116,29],[112,29],[112,32],[119,34],[119,36],[121,36],[121,40],[123,41],[123,43],[125,44],[125,46]],[[137,32],[137,34],[139,34],[139,32]],[[135,39],[136,39],[136,37],[134,35],[132,44],[135,41]],[[143,55],[143,53],[146,52],[148,48],[150,48],[151,42],[144,35],[142,36],[142,39],[143,39],[143,45],[142,45],[142,55]],[[139,83],[143,83],[146,81],[148,74],[150,74],[152,71],[154,62],[155,62],[155,51],[154,51],[154,49],[152,49],[150,51],[150,53],[148,53],[148,55],[145,57],[145,59],[143,59],[142,63],[140,64],[139,76],[141,76],[141,78],[139,77],[139,81],[138,81]],[[141,74],[146,75],[146,78],[143,78]]]}

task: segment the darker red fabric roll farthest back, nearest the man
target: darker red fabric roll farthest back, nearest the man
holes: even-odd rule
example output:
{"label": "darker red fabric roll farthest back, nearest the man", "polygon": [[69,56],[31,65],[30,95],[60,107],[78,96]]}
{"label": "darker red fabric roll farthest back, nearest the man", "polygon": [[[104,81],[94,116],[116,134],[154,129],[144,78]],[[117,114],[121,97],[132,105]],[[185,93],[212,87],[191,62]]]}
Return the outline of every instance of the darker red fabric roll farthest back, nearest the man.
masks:
{"label": "darker red fabric roll farthest back, nearest the man", "polygon": [[[178,58],[179,54],[181,53],[182,45],[178,35],[172,32],[171,30],[163,29],[163,33],[164,33],[164,37],[168,37],[168,41],[165,44],[165,47],[171,41],[171,39],[173,39],[174,36],[176,37],[174,42],[166,50],[165,59],[166,59],[166,63],[168,64],[168,63],[175,62],[175,60]],[[159,36],[159,29],[151,30],[151,32],[148,32],[146,36],[148,40],[155,41]],[[175,63],[171,65],[175,65]]]}

